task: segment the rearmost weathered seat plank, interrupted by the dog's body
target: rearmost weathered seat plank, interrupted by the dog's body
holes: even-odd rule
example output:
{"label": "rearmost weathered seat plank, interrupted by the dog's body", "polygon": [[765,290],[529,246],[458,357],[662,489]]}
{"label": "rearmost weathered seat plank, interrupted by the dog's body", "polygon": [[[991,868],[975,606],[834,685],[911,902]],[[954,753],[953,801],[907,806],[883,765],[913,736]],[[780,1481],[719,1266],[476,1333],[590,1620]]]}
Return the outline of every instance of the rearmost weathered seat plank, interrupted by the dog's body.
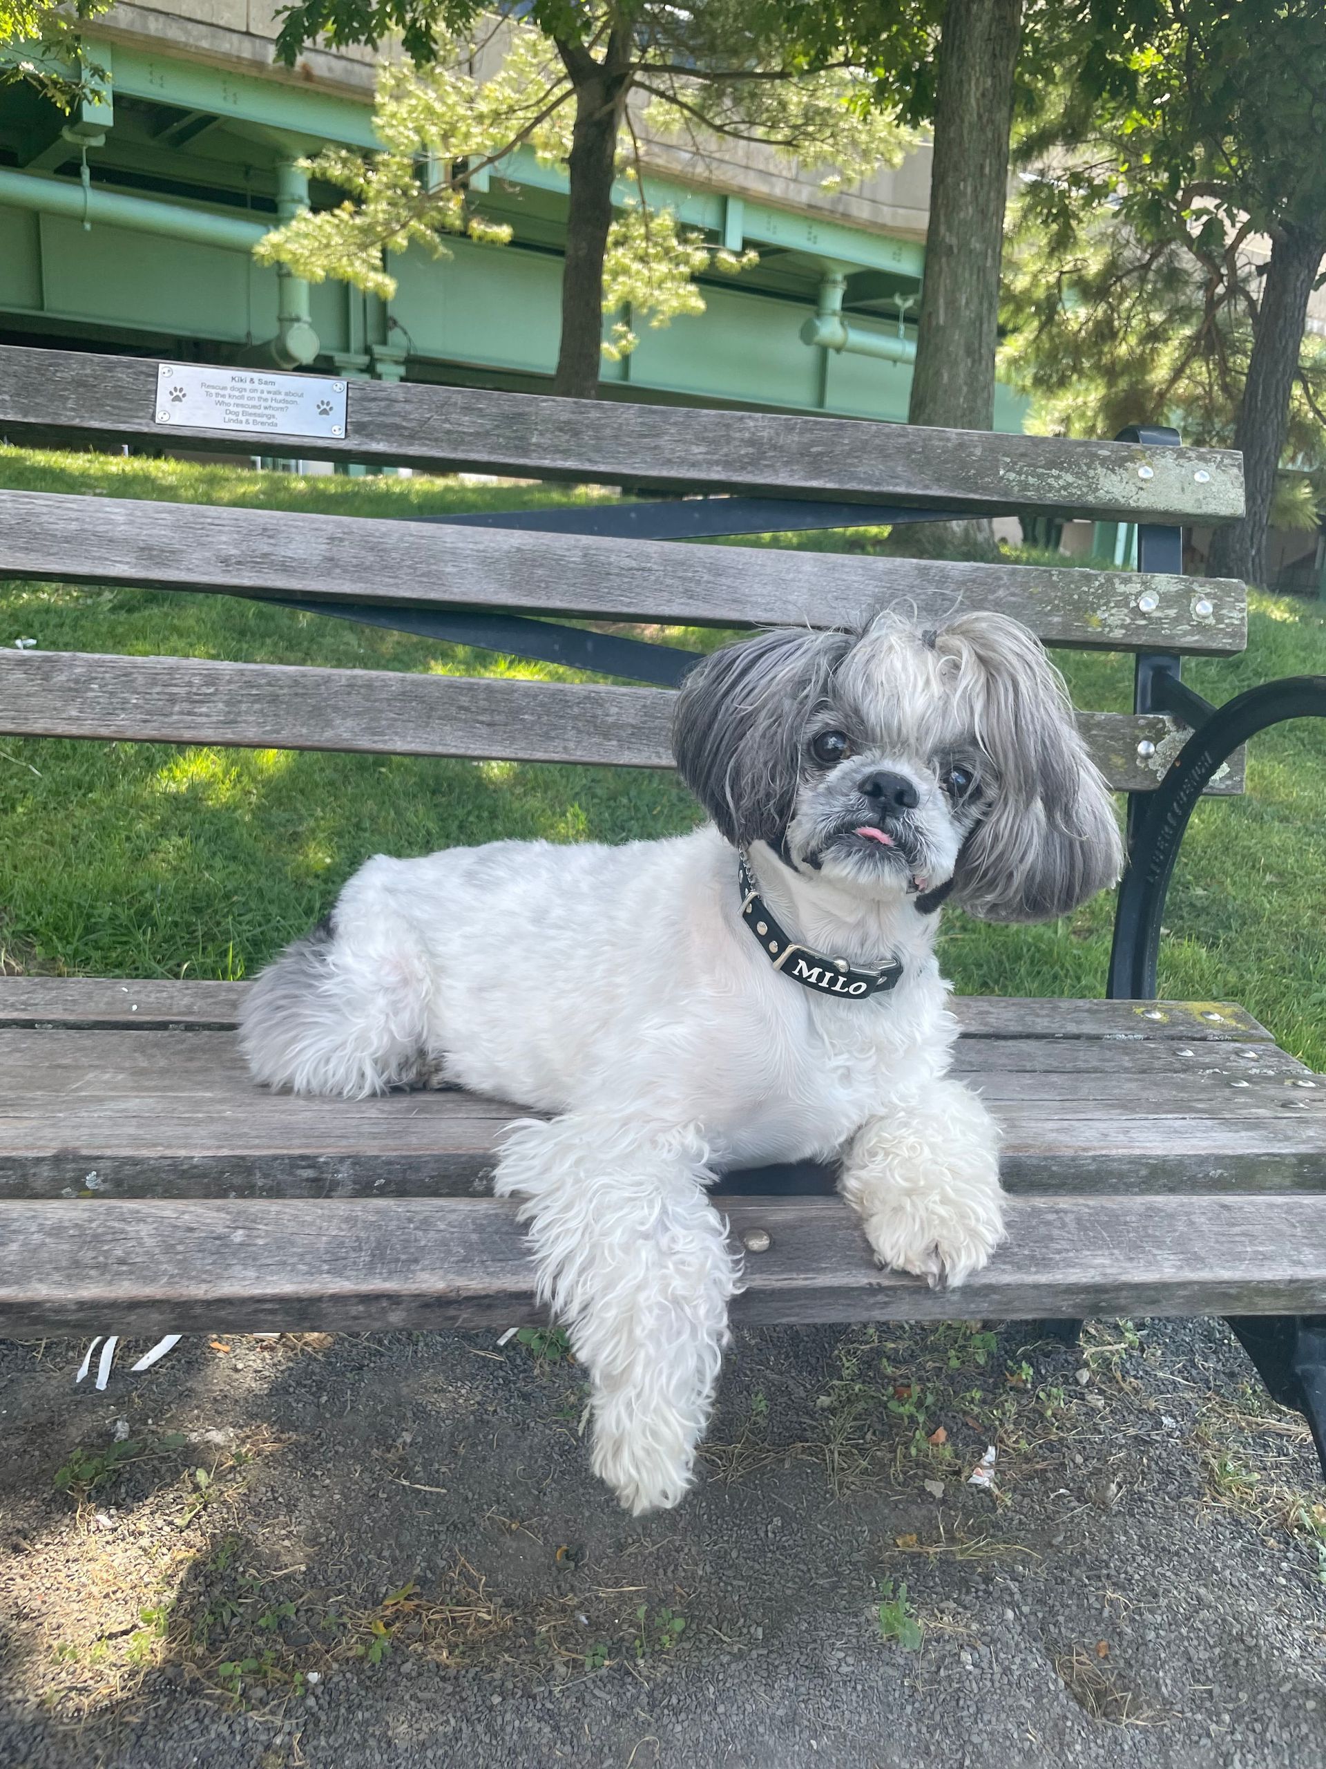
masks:
{"label": "rearmost weathered seat plank, interrupted by the dog's body", "polygon": [[[161,976],[0,976],[0,1026],[225,1030],[239,1024],[248,987]],[[1105,1040],[1110,1049],[1139,1040],[1275,1045],[1271,1033],[1232,1001],[955,996],[949,1005],[964,1038]]]}

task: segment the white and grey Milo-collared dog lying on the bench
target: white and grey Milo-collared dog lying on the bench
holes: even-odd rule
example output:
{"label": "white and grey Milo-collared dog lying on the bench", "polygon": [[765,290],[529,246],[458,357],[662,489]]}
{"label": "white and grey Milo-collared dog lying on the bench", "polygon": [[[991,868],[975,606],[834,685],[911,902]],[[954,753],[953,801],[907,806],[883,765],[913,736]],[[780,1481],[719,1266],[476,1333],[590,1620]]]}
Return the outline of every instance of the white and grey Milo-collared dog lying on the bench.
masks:
{"label": "white and grey Milo-collared dog lying on the bench", "polygon": [[880,1263],[979,1270],[999,1139],[946,1079],[934,911],[1063,915],[1121,863],[1063,683],[1001,616],[728,646],[688,676],[674,741],[705,828],[377,856],[242,1028],[272,1086],[440,1081],[553,1114],[511,1130],[495,1191],[523,1199],[594,1470],[635,1512],[691,1482],[728,1337],[714,1171],[834,1160]]}

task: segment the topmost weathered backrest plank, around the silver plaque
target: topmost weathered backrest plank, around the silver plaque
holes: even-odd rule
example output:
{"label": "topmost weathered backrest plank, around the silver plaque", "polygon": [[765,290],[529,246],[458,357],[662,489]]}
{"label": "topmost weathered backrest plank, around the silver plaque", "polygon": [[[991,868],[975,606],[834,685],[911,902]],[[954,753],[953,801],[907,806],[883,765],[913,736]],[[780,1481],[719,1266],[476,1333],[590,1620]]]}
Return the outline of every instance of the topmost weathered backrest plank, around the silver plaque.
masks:
{"label": "topmost weathered backrest plank, around the silver plaque", "polygon": [[[1222,449],[911,430],[785,412],[679,410],[469,387],[350,382],[347,433],[316,442],[156,423],[157,363],[7,347],[0,426],[249,455],[514,472],[755,495],[1038,509],[1128,522],[1243,515],[1243,462]],[[1147,471],[1149,469],[1149,471]]]}

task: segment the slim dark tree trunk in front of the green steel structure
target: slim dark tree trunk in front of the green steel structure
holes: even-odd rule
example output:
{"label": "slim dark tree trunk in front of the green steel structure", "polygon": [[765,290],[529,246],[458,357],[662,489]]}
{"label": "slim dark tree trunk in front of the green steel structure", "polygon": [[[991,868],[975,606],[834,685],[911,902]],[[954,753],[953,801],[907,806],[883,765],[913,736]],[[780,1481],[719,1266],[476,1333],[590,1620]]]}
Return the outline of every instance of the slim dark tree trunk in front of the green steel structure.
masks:
{"label": "slim dark tree trunk in front of the green steel structure", "polygon": [[562,58],[576,90],[576,120],[571,134],[571,193],[562,265],[562,341],[553,393],[592,400],[599,391],[603,361],[603,253],[612,226],[617,129],[629,74],[613,69],[610,58],[596,62],[578,46],[564,48]]}

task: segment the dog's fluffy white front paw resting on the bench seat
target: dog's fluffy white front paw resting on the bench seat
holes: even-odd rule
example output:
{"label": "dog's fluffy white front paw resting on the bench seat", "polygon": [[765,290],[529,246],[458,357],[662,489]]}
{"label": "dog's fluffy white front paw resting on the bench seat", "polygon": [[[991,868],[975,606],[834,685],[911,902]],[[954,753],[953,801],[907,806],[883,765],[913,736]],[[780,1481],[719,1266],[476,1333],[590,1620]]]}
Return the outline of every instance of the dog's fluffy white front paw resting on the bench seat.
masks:
{"label": "dog's fluffy white front paw resting on the bench seat", "polygon": [[880,1265],[956,1288],[1004,1237],[999,1129],[958,1081],[880,1104],[843,1152],[838,1191]]}

